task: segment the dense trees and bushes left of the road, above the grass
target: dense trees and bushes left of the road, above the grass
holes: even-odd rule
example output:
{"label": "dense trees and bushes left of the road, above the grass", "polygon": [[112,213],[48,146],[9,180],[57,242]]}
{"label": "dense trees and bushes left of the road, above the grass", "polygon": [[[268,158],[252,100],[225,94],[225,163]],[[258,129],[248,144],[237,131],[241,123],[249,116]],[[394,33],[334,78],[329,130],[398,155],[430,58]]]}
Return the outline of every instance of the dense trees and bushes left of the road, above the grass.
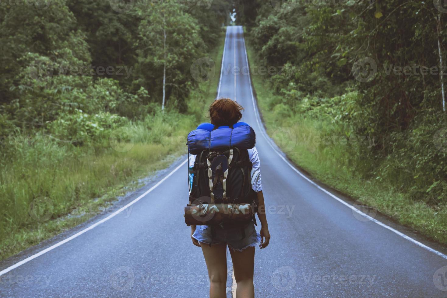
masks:
{"label": "dense trees and bushes left of the road, above the grass", "polygon": [[1,135],[16,128],[58,135],[52,123],[71,122],[80,110],[138,118],[161,103],[164,68],[165,101],[185,110],[196,86],[186,75],[190,60],[215,46],[228,4],[132,1],[120,13],[113,2],[0,6]]}

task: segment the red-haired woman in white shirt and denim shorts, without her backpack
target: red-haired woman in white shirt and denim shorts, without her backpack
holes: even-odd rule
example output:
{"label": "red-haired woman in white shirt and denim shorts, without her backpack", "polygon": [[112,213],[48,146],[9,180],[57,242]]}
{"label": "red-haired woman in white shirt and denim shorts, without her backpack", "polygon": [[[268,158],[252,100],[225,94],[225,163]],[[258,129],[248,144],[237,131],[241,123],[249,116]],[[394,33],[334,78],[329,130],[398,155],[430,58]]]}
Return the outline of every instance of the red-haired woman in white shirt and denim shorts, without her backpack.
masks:
{"label": "red-haired woman in white shirt and denim shorts, without her backpack", "polygon": [[[214,124],[215,127],[236,124],[242,118],[241,110],[243,108],[231,99],[215,100],[209,109],[211,124]],[[259,170],[260,162],[256,148],[248,151],[253,168]],[[194,166],[194,160],[195,156],[192,156],[190,166]],[[236,279],[236,296],[254,297],[254,251],[257,245],[261,248],[266,248],[269,245],[270,233],[265,214],[261,178],[253,186],[253,190],[257,192],[259,200],[257,213],[261,222],[259,234],[255,230],[253,221],[244,227],[244,231],[241,228],[216,228],[214,237],[211,236],[209,226],[191,226],[193,244],[202,248],[207,263],[208,276],[210,277],[210,297],[212,298],[225,298],[227,295],[227,245]],[[245,237],[243,237],[243,233],[245,233]]]}

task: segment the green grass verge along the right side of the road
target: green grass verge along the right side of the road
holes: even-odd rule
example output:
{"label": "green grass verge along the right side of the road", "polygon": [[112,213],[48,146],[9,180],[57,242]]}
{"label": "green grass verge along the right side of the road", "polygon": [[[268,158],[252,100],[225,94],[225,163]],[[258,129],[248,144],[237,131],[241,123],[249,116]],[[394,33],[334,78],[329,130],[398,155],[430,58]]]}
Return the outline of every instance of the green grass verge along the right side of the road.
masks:
{"label": "green grass verge along the right side of the road", "polygon": [[[250,64],[256,65],[256,56],[249,42],[247,51]],[[254,75],[252,80],[267,133],[292,161],[313,177],[359,203],[373,207],[396,222],[447,244],[447,206],[434,207],[413,201],[393,189],[386,181],[362,178],[350,162],[350,152],[346,145],[338,141],[320,145],[319,140],[327,136],[325,132],[330,131],[328,128],[331,123],[328,120],[288,114],[279,105],[272,104],[281,101],[273,94],[270,83],[264,76]]]}

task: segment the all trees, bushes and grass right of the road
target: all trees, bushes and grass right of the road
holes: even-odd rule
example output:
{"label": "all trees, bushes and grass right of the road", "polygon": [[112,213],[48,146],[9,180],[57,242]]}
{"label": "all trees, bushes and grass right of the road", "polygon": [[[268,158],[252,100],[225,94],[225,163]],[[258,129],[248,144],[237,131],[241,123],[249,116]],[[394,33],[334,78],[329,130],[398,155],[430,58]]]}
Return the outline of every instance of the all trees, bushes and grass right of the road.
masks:
{"label": "all trees, bushes and grass right of the road", "polygon": [[433,1],[343,2],[238,1],[251,68],[283,67],[252,75],[268,133],[366,213],[447,244],[447,16]]}

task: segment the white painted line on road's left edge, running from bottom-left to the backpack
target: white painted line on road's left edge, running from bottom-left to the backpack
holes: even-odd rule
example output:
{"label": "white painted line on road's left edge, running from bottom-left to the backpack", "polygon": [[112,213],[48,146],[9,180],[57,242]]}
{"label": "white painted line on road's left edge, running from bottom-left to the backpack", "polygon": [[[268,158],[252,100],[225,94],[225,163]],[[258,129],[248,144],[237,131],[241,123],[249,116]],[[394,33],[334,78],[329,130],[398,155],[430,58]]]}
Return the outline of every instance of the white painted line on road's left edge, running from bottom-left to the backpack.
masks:
{"label": "white painted line on road's left edge, running from bottom-left to the backpack", "polygon": [[38,252],[38,253],[36,253],[36,254],[30,256],[30,257],[27,257],[27,258],[24,259],[24,260],[22,260],[22,261],[20,261],[20,262],[18,262],[18,263],[16,263],[16,264],[14,264],[14,265],[12,265],[12,266],[6,268],[6,269],[0,271],[0,276],[2,276],[2,275],[5,274],[5,273],[8,273],[9,271],[11,271],[11,270],[13,270],[13,269],[16,269],[17,267],[19,267],[19,266],[21,266],[21,265],[23,265],[23,264],[25,264],[25,263],[27,263],[27,262],[29,262],[29,261],[31,261],[31,260],[34,260],[34,259],[37,258],[37,257],[42,256],[44,253],[49,252],[49,251],[51,251],[51,250],[53,250],[53,249],[55,249],[55,248],[61,246],[62,244],[67,243],[67,242],[70,241],[70,240],[75,239],[76,237],[78,237],[78,236],[84,234],[85,232],[87,232],[87,231],[89,231],[89,230],[95,228],[96,226],[98,226],[98,225],[100,225],[100,224],[106,222],[107,220],[111,219],[111,218],[114,217],[115,215],[117,215],[117,214],[121,213],[122,211],[126,210],[128,207],[130,207],[131,205],[135,204],[135,203],[138,202],[140,199],[143,199],[144,196],[148,195],[148,193],[150,193],[150,192],[151,192],[152,190],[154,190],[157,186],[159,186],[164,180],[168,179],[172,174],[174,174],[178,169],[180,169],[184,164],[186,164],[187,161],[188,161],[187,159],[186,159],[185,161],[183,161],[179,166],[177,166],[177,168],[175,168],[171,173],[169,173],[168,175],[166,175],[166,176],[165,176],[163,179],[161,179],[159,182],[157,182],[156,185],[154,185],[154,186],[152,186],[151,188],[149,188],[143,195],[140,195],[138,198],[136,198],[136,199],[133,200],[132,202],[128,203],[126,206],[121,207],[120,209],[118,209],[118,210],[115,211],[114,213],[112,213],[112,214],[110,214],[109,216],[107,216],[105,219],[101,219],[101,220],[98,221],[97,223],[92,224],[91,226],[89,226],[88,228],[85,228],[84,230],[82,230],[82,231],[80,231],[80,232],[77,232],[77,233],[74,234],[73,236],[70,236],[70,237],[68,237],[68,238],[65,239],[65,240],[62,240],[62,241],[60,241],[60,242],[58,242],[58,243],[56,243],[56,244],[54,244],[54,245],[51,245],[49,248],[46,248],[46,249],[44,249],[44,250],[42,250],[42,251],[40,251],[40,252]]}

